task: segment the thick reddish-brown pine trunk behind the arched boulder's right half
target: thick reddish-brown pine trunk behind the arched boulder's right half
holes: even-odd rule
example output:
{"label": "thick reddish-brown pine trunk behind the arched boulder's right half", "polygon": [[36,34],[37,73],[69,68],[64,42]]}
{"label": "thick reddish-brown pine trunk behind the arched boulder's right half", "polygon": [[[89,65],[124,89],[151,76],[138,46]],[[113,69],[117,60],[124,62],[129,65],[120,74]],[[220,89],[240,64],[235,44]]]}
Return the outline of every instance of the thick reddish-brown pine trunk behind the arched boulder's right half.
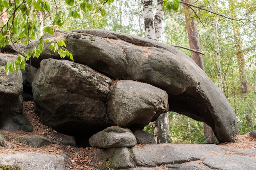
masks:
{"label": "thick reddish-brown pine trunk behind the arched boulder's right half", "polygon": [[[184,2],[189,3],[189,0],[184,0]],[[186,29],[189,36],[190,48],[195,49],[197,51],[202,51],[199,43],[199,36],[198,36],[196,21],[190,18],[189,8],[185,4],[183,4],[183,8],[184,8],[184,14],[185,14],[185,20],[186,20]],[[203,58],[200,53],[195,53],[191,51],[191,58],[194,60],[196,64],[198,64],[200,68],[202,68],[203,71],[205,71]],[[203,123],[203,127],[204,127],[204,136],[208,138],[208,143],[213,144],[214,133],[212,128],[205,123]]]}

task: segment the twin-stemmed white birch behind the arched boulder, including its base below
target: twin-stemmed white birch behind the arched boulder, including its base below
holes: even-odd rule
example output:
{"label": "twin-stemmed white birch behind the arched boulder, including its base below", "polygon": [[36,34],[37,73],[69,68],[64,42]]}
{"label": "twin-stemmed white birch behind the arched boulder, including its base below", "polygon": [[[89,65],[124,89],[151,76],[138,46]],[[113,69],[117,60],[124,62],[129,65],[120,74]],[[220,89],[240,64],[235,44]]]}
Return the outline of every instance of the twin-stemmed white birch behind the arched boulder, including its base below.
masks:
{"label": "twin-stemmed white birch behind the arched boulder, including its base below", "polygon": [[[164,11],[162,10],[163,1],[157,0],[157,10],[153,14],[153,0],[142,0],[145,24],[145,37],[161,41],[162,22]],[[169,115],[162,113],[156,121],[151,122],[156,144],[171,143]]]}

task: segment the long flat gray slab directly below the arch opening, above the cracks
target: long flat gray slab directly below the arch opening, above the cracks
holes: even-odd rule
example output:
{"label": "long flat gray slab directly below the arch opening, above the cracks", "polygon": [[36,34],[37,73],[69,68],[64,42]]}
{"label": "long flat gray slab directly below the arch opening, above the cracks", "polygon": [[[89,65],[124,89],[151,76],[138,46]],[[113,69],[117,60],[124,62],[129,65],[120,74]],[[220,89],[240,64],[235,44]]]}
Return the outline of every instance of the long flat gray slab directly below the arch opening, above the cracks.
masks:
{"label": "long flat gray slab directly below the arch opening, above the cracks", "polygon": [[164,164],[198,161],[214,152],[224,155],[215,145],[205,144],[158,144],[132,148],[137,166],[154,167]]}

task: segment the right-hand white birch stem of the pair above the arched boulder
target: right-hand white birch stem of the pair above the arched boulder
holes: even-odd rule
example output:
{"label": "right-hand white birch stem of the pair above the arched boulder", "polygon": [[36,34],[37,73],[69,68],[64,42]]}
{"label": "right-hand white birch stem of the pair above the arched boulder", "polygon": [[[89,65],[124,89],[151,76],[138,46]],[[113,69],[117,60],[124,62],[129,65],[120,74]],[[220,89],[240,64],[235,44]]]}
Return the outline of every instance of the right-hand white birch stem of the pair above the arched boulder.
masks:
{"label": "right-hand white birch stem of the pair above the arched boulder", "polygon": [[157,11],[155,13],[155,38],[157,41],[162,41],[161,35],[162,35],[162,23],[164,18],[164,11],[163,8],[163,1],[157,0]]}

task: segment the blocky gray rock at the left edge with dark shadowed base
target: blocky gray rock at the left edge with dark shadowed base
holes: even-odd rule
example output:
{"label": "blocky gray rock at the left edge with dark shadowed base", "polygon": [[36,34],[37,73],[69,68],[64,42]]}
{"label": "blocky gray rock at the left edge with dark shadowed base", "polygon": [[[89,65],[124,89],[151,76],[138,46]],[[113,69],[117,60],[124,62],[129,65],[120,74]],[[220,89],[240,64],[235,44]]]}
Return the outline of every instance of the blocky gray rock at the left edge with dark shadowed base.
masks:
{"label": "blocky gray rock at the left edge with dark shadowed base", "polygon": [[0,70],[0,129],[32,132],[33,127],[22,114],[22,73]]}

